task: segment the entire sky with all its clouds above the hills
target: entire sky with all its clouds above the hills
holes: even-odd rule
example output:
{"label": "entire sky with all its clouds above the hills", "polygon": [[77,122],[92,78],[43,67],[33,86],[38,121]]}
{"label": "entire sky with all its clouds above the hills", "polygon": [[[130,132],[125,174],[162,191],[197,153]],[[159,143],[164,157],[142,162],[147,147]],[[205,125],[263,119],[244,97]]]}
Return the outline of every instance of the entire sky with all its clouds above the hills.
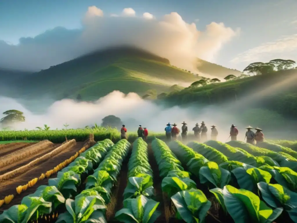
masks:
{"label": "entire sky with all its clouds above the hills", "polygon": [[194,57],[238,70],[297,61],[296,8],[296,0],[0,1],[0,67],[46,69],[133,43],[180,67]]}

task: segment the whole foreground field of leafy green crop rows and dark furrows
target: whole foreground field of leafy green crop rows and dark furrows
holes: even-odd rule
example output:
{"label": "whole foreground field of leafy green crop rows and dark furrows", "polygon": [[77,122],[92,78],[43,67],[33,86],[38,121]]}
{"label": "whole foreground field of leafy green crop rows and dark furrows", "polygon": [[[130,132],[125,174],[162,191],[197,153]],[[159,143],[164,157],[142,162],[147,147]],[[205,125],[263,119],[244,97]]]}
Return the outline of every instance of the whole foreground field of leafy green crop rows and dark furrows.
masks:
{"label": "whole foreground field of leafy green crop rows and dark furrows", "polygon": [[[90,142],[68,166],[21,194],[17,186],[55,168],[85,143],[75,142],[34,169],[0,181],[0,199],[15,195],[8,204],[4,199],[0,211],[30,206],[29,196],[42,202],[38,215],[33,211],[24,222],[297,222],[297,152],[289,147],[156,138]],[[0,215],[0,222],[7,217]]]}

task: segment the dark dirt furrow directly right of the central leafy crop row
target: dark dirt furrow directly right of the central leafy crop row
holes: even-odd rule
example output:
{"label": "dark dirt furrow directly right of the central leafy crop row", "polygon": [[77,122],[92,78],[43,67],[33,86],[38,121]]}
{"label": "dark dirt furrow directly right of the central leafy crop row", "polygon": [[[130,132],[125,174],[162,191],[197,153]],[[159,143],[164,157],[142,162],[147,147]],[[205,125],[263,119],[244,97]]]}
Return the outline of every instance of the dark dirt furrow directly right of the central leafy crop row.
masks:
{"label": "dark dirt furrow directly right of the central leafy crop row", "polygon": [[[153,170],[153,186],[155,189],[155,198],[157,202],[160,202],[159,204],[159,210],[161,211],[161,215],[155,222],[166,222],[166,213],[165,209],[167,209],[164,205],[163,200],[163,192],[162,192],[162,178],[159,175],[159,168],[158,164],[155,160],[153,150],[151,149],[151,144],[148,144],[148,156],[149,156],[149,164],[151,165],[151,169]],[[168,216],[169,217],[169,216]]]}

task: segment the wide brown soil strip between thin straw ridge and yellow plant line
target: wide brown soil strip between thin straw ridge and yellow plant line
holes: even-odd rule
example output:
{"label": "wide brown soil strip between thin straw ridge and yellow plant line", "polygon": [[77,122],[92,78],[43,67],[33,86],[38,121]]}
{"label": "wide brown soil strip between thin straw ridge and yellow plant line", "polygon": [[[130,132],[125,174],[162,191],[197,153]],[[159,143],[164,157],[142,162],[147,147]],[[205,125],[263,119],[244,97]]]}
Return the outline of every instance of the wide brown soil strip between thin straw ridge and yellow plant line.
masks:
{"label": "wide brown soil strip between thin straw ridge and yellow plant line", "polygon": [[[46,171],[53,169],[64,160],[69,159],[71,156],[73,156],[76,152],[78,152],[78,150],[80,150],[83,147],[83,144],[84,142],[77,142],[76,144],[67,147],[65,150],[58,153],[56,156],[49,158],[47,161],[43,162],[42,164],[36,167],[33,167],[31,170],[13,179],[4,180],[0,182],[0,200],[4,199],[4,197],[9,194],[13,194],[15,196],[15,198],[12,199],[12,201],[8,205],[3,205],[0,208],[0,212],[10,208],[12,205],[20,204],[23,197],[34,193],[37,187],[41,185],[47,185],[48,178],[38,181],[33,187],[27,189],[21,194],[16,193],[17,186],[28,183],[29,180],[39,177],[42,173],[45,173]],[[56,174],[50,176],[50,178],[55,178],[55,177],[56,177]]]}

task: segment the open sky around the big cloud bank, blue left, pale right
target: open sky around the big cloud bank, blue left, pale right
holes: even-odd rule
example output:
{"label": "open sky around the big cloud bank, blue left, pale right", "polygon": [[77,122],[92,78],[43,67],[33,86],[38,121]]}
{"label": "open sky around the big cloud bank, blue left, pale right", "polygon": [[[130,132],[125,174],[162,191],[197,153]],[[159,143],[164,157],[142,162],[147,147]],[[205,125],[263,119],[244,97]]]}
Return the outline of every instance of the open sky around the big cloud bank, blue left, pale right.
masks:
{"label": "open sky around the big cloud bank, blue left, pale right", "polygon": [[230,68],[242,70],[255,62],[251,58],[297,60],[296,0],[7,0],[0,1],[0,40],[18,44],[21,37],[35,37],[57,26],[79,29],[92,5],[105,15],[120,14],[128,7],[136,15],[149,12],[156,18],[177,12],[187,23],[199,19],[196,25],[201,31],[213,21],[240,28],[239,36],[224,44],[214,59]]}

